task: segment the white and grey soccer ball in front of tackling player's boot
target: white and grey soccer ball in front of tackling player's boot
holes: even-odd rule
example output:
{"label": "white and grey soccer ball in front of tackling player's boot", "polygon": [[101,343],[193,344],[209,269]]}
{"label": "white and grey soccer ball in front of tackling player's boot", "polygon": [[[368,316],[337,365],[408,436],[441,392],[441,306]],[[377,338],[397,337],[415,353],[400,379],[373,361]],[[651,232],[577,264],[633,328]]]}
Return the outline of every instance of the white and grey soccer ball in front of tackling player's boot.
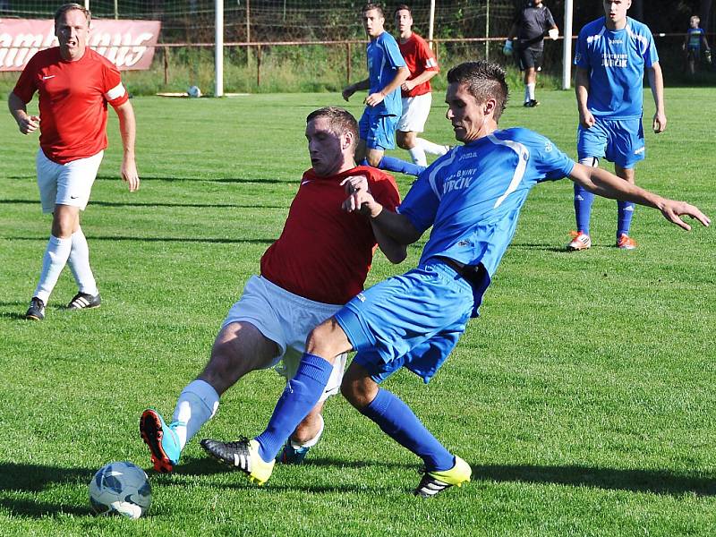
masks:
{"label": "white and grey soccer ball in front of tackling player's boot", "polygon": [[136,519],[150,504],[147,474],[132,463],[109,463],[90,482],[90,509],[95,515],[118,514]]}

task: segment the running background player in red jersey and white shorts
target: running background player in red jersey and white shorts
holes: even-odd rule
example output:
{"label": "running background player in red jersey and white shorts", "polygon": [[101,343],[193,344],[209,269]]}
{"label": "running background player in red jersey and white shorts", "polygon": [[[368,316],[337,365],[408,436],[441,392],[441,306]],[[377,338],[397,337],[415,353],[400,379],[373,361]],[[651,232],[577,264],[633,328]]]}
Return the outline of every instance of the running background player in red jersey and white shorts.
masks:
{"label": "running background player in red jersey and white shorts", "polygon": [[425,122],[430,115],[432,90],[430,79],[438,74],[438,60],[428,47],[425,39],[413,32],[413,13],[405,4],[396,7],[396,28],[399,39],[400,54],[405,59],[410,77],[400,86],[403,96],[403,115],[397,124],[396,141],[398,147],[407,150],[413,163],[428,166],[425,153],[445,155],[449,149],[418,134],[425,129]]}

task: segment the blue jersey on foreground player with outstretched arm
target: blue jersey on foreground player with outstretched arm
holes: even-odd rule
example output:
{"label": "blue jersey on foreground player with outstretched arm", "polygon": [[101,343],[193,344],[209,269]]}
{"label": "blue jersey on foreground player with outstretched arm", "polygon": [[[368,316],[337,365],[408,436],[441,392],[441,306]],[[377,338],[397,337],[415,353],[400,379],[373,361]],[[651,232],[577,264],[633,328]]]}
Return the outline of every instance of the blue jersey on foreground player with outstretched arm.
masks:
{"label": "blue jersey on foreground player with outstretched arm", "polygon": [[574,166],[550,140],[523,128],[451,149],[422,172],[398,208],[418,231],[432,226],[421,264],[436,256],[482,263],[492,277],[527,194]]}

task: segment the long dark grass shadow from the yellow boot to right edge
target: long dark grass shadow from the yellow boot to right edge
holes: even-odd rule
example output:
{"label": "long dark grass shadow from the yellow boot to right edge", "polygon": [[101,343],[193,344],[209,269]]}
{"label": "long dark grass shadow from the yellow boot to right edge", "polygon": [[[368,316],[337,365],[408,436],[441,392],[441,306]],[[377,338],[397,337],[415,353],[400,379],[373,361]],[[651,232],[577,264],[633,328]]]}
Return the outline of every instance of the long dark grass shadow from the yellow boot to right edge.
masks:
{"label": "long dark grass shadow from the yellow boot to right edge", "polygon": [[667,470],[620,470],[592,466],[473,465],[473,481],[555,483],[606,490],[681,496],[716,495],[716,479]]}

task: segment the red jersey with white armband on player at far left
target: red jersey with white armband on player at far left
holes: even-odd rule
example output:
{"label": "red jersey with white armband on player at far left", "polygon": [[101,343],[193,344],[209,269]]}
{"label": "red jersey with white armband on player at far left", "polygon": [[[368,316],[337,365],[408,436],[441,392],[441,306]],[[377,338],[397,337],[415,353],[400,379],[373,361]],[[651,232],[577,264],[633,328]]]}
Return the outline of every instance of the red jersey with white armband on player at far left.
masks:
{"label": "red jersey with white armband on player at far left", "polygon": [[81,59],[62,59],[59,47],[32,56],[13,93],[27,104],[39,96],[39,145],[47,158],[65,164],[107,148],[107,103],[129,98],[115,64],[89,47]]}

